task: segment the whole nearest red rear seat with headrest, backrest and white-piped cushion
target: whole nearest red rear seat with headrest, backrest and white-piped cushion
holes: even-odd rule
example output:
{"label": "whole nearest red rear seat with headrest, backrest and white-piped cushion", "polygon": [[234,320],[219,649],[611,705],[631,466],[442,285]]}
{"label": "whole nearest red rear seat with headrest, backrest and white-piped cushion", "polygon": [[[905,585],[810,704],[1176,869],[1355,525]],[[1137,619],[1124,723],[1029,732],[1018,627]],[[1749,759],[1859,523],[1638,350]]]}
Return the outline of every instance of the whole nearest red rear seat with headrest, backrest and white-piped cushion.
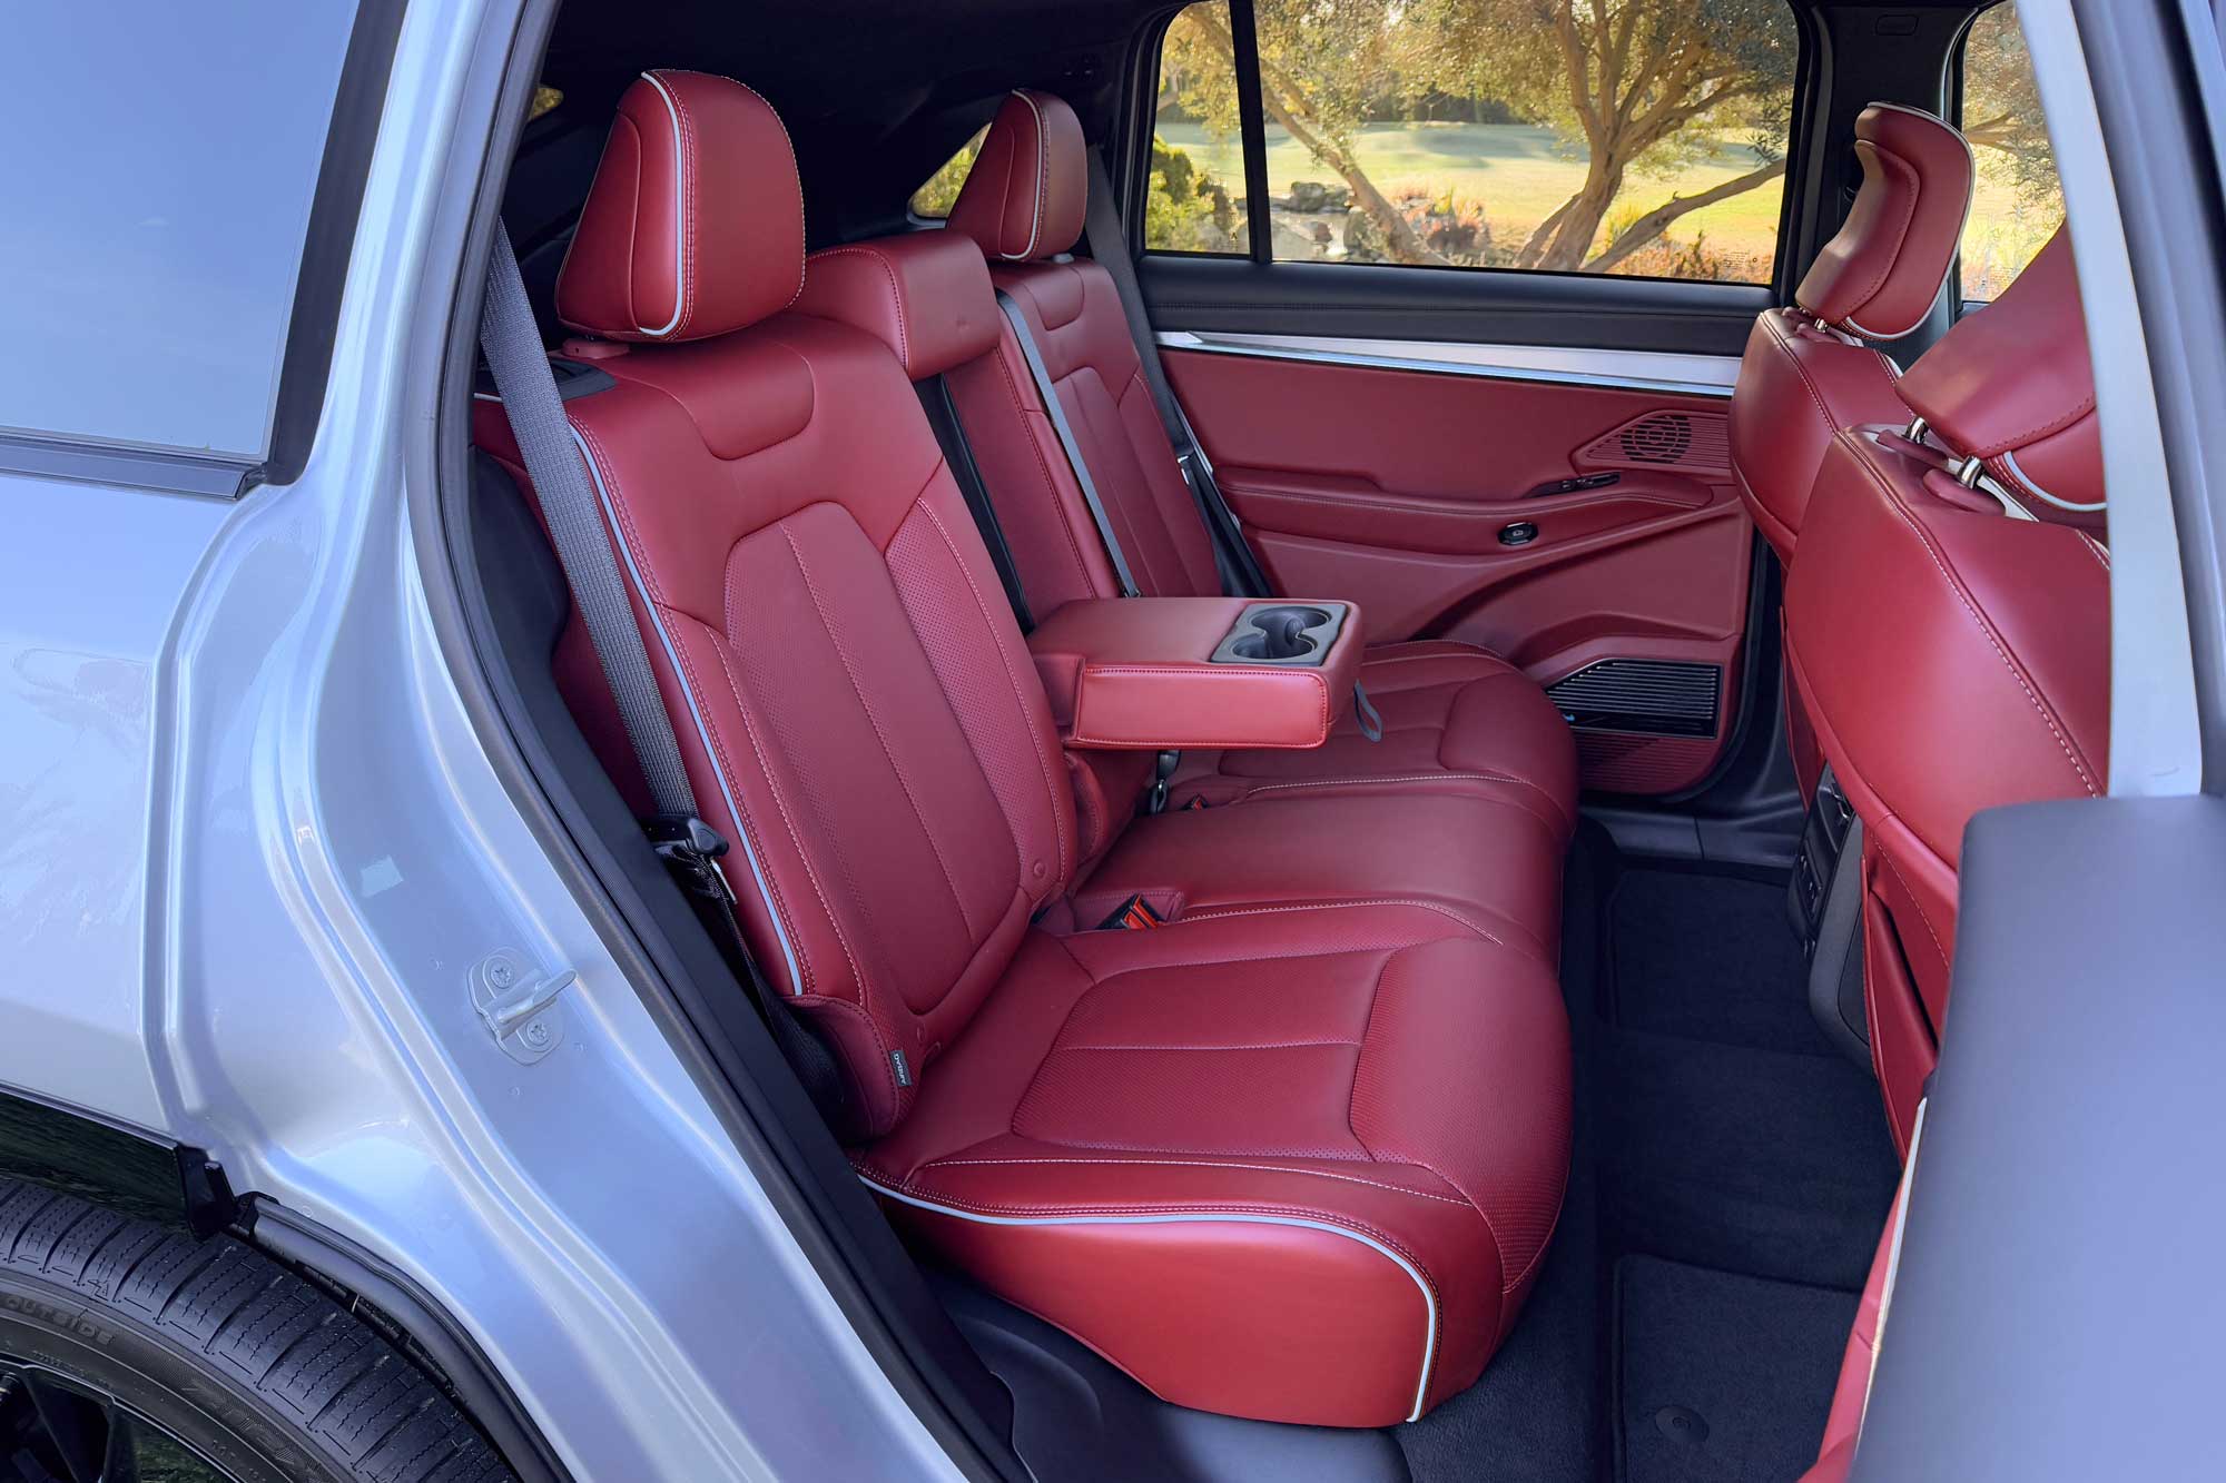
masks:
{"label": "whole nearest red rear seat with headrest, backrest and white-piped cushion", "polygon": [[[1558,1214],[1547,962],[1442,900],[1071,931],[1048,701],[906,367],[788,312],[797,200],[755,94],[650,73],[556,305],[628,345],[565,412],[743,931],[853,1082],[861,1178],[1171,1401],[1425,1412],[1483,1369]],[[508,452],[485,403],[479,430]]]}

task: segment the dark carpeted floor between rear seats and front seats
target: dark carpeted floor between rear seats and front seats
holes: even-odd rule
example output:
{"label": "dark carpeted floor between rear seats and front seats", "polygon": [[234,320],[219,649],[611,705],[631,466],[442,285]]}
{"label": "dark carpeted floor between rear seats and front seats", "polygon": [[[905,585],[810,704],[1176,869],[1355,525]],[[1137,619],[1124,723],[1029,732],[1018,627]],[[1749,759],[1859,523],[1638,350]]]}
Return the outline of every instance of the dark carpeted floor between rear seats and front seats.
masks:
{"label": "dark carpeted floor between rear seats and front seats", "polygon": [[1877,1087],[1808,1018],[1783,884],[1629,868],[1585,826],[1567,902],[1567,1207],[1485,1376],[1398,1430],[1407,1465],[1418,1483],[1794,1479],[1892,1202]]}

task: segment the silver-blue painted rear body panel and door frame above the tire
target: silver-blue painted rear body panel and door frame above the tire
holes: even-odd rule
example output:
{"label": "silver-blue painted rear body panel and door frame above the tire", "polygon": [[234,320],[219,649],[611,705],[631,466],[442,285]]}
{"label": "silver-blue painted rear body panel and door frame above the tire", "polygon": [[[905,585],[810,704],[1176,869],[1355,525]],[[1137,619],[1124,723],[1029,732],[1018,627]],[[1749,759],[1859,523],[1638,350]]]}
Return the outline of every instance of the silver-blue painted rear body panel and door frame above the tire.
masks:
{"label": "silver-blue painted rear body panel and door frame above the tire", "polygon": [[[403,20],[298,483],[229,503],[0,474],[0,1087],[203,1145],[394,1260],[583,1481],[953,1476],[528,835],[430,632],[401,387],[418,294],[445,283],[423,263],[436,194],[470,178],[443,163],[485,138],[459,116],[467,67],[514,24],[485,9]],[[263,47],[232,11],[178,16]],[[129,183],[114,145],[47,147]],[[205,169],[223,189],[223,156]],[[274,218],[307,214],[294,185]],[[227,269],[165,272],[220,292]],[[147,428],[263,436],[267,387],[194,396],[223,405]],[[579,973],[536,1064],[472,1006],[496,949]]]}

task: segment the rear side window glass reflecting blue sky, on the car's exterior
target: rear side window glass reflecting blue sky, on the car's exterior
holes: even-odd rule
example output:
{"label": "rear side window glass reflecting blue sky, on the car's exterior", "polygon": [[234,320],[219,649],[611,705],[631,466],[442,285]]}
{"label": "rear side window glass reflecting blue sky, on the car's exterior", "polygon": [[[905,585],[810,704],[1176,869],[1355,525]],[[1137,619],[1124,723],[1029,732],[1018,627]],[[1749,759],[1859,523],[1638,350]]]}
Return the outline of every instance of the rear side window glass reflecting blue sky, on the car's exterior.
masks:
{"label": "rear side window glass reflecting blue sky, on the car's exterior", "polygon": [[[354,4],[9,7],[0,428],[263,459]],[[91,91],[87,91],[91,89]]]}

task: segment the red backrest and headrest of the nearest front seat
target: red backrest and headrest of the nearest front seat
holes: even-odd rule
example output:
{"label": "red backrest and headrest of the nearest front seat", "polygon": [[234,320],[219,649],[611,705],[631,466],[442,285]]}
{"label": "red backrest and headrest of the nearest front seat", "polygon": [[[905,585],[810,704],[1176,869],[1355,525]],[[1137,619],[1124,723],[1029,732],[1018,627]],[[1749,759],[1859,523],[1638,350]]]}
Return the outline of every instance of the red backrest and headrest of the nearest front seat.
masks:
{"label": "red backrest and headrest of the nearest front seat", "polygon": [[[1963,826],[2108,788],[2108,552],[1957,479],[1974,450],[2015,456],[2090,419],[2077,314],[2059,234],[1903,383],[1950,448],[1894,428],[1834,439],[1785,590],[1787,668],[1865,826],[1872,1058],[1903,1140],[1948,1009]],[[2059,490],[2099,505],[2099,463],[2095,483],[2070,470],[2050,463]]]}

